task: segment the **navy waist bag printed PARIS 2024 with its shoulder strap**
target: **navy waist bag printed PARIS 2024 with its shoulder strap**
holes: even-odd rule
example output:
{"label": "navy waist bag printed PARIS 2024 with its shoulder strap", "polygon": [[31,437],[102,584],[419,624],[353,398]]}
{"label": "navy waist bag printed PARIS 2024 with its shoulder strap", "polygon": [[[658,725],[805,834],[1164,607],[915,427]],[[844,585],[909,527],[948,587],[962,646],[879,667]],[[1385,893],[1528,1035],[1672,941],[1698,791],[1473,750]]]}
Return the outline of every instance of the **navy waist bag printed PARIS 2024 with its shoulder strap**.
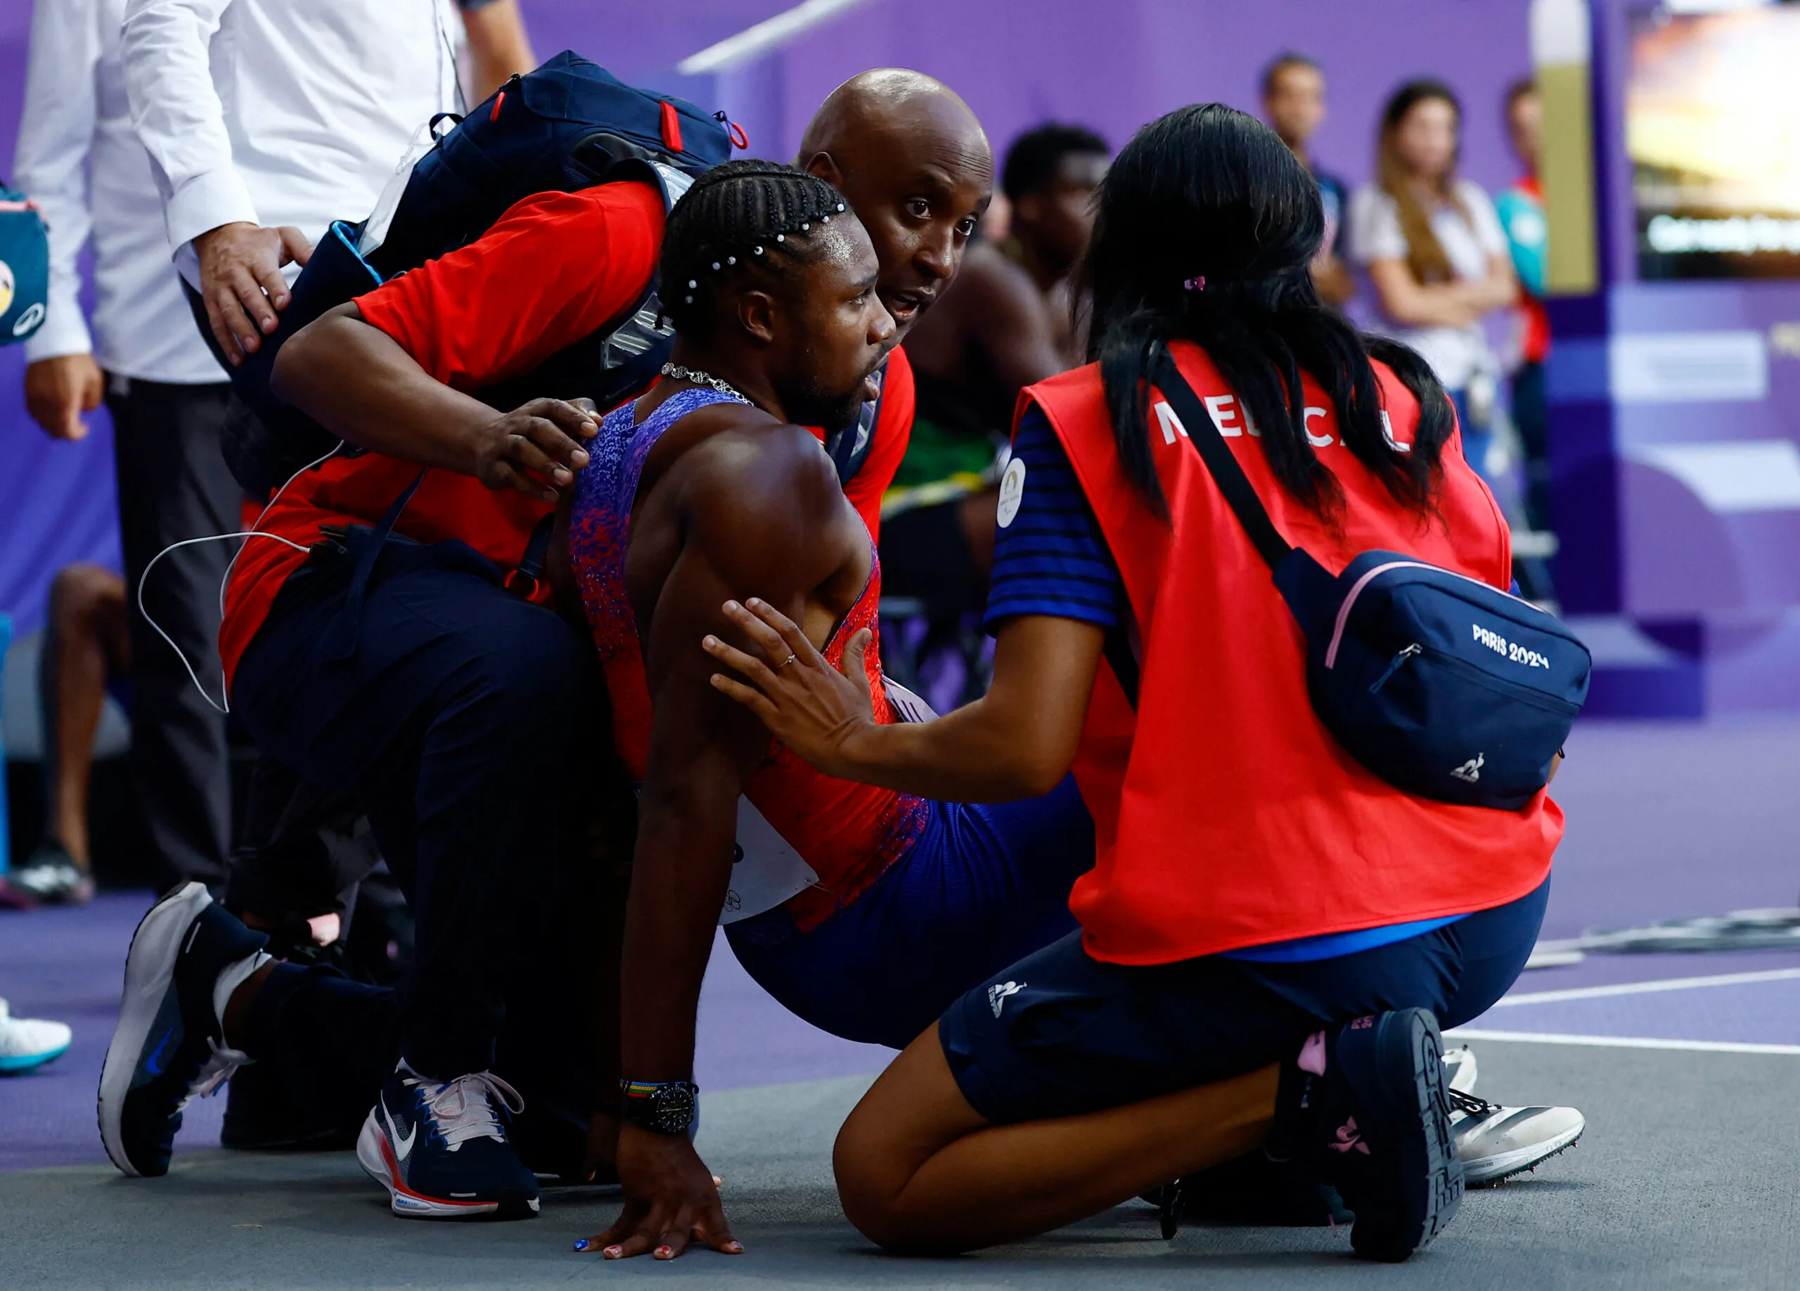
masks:
{"label": "navy waist bag printed PARIS 2024 with its shoulder strap", "polygon": [[1555,616],[1399,551],[1336,578],[1289,546],[1165,351],[1156,385],[1307,637],[1307,695],[1332,736],[1395,789],[1517,810],[1588,699],[1593,659]]}

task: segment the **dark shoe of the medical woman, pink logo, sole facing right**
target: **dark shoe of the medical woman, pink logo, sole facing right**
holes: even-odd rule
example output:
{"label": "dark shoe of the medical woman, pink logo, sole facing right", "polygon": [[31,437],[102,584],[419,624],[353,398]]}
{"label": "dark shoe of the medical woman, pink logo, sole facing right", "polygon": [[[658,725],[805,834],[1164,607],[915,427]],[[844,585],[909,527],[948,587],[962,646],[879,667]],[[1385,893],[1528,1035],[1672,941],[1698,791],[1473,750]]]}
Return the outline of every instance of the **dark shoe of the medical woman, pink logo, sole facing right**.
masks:
{"label": "dark shoe of the medical woman, pink logo, sole facing right", "polygon": [[1357,1255],[1399,1262],[1444,1232],[1463,1172],[1436,1017],[1402,1008],[1310,1035],[1282,1064],[1271,1154],[1289,1152],[1355,1212]]}

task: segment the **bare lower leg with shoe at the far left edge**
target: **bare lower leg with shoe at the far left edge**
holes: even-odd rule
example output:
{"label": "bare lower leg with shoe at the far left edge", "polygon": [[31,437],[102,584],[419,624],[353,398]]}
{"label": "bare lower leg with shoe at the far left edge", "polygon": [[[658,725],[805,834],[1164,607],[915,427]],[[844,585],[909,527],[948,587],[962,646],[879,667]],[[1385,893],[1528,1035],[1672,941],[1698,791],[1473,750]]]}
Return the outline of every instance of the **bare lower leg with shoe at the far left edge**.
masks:
{"label": "bare lower leg with shoe at the far left edge", "polygon": [[68,565],[50,583],[50,616],[38,655],[43,713],[43,839],[0,877],[0,907],[79,904],[94,895],[88,848],[88,774],[108,686],[131,664],[124,580],[99,565]]}

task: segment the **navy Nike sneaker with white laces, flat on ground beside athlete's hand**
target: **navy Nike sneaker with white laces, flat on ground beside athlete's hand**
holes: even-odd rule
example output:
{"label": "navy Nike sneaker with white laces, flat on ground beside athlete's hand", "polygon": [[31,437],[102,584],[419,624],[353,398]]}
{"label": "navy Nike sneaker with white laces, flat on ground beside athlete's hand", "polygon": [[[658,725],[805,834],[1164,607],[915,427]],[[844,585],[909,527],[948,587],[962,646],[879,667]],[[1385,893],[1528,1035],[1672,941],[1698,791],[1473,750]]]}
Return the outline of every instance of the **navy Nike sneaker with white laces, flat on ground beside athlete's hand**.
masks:
{"label": "navy Nike sneaker with white laces, flat on ground beside athlete's hand", "polygon": [[526,1109],[491,1071],[428,1080],[405,1062],[382,1082],[362,1124],[356,1161],[409,1219],[529,1217],[538,1181],[506,1136]]}

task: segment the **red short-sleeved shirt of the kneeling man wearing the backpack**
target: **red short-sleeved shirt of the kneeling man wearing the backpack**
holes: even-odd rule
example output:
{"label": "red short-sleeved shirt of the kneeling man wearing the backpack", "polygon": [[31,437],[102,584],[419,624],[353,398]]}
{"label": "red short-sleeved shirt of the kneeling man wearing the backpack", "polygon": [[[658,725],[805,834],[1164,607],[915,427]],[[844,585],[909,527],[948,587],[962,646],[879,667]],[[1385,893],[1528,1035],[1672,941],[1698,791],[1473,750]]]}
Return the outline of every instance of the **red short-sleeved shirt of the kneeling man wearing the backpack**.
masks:
{"label": "red short-sleeved shirt of the kneeling man wearing the backpack", "polygon": [[[475,243],[385,283],[356,306],[436,380],[475,391],[529,373],[635,304],[661,247],[662,196],[648,184],[542,193]],[[322,526],[376,524],[418,474],[416,465],[380,454],[335,457],[293,479],[259,528],[311,547]],[[511,569],[549,510],[524,493],[428,470],[394,531],[419,542],[461,538]],[[284,542],[245,544],[220,630],[227,681],[304,560]]]}

